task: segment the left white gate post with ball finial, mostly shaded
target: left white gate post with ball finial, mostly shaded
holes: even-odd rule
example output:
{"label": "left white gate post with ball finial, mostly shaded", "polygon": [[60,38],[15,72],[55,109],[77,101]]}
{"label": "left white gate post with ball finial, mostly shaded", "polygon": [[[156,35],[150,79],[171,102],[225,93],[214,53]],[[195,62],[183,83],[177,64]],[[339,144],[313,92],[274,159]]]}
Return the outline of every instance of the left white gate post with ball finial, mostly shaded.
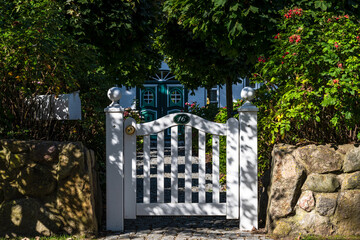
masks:
{"label": "left white gate post with ball finial, mostly shaded", "polygon": [[112,103],[106,113],[106,229],[124,230],[124,109],[120,88],[107,93]]}

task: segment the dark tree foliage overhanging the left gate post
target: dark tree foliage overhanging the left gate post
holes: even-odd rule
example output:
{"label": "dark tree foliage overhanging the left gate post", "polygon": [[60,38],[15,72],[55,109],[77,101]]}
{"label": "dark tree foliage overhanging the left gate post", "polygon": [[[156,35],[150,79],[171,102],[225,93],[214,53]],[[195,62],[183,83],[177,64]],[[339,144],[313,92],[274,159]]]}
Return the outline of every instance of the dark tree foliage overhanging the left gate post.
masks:
{"label": "dark tree foliage overhanging the left gate post", "polygon": [[160,2],[146,0],[58,1],[67,31],[96,47],[99,64],[119,85],[140,86],[155,73],[161,56],[153,48]]}

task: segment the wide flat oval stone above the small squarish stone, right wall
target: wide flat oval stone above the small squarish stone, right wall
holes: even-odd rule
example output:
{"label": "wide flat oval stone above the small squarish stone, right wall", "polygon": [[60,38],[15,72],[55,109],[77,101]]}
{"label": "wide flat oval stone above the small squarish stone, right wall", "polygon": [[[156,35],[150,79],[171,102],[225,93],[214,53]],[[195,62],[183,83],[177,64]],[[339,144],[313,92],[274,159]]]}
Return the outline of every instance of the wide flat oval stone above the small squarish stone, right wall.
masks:
{"label": "wide flat oval stone above the small squarish stone, right wall", "polygon": [[310,174],[306,179],[303,190],[313,192],[335,192],[340,183],[334,174]]}

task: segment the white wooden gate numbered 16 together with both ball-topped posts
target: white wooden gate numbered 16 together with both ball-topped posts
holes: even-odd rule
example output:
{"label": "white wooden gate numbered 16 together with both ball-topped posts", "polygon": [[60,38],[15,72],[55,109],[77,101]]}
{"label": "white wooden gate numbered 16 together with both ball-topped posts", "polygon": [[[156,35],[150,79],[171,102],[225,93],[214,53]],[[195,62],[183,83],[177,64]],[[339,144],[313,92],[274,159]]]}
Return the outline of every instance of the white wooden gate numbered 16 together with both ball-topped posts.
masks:
{"label": "white wooden gate numbered 16 together with both ball-topped posts", "polygon": [[[240,230],[257,228],[257,108],[247,101],[239,111],[239,120],[226,124],[207,121],[189,113],[174,113],[148,123],[123,120],[123,108],[117,103],[118,88],[108,92],[113,103],[105,109],[107,229],[124,230],[124,219],[136,216],[226,216],[240,219]],[[251,100],[253,90],[242,92]],[[185,200],[178,196],[178,126],[184,126]],[[171,132],[171,201],[164,201],[164,131]],[[193,129],[198,139],[193,139]],[[212,201],[206,202],[206,133],[212,137]],[[157,139],[156,202],[150,202],[150,135]],[[136,136],[143,136],[143,201],[136,196]],[[220,202],[219,137],[226,136],[226,202]],[[192,141],[198,141],[198,202],[192,199]],[[240,160],[241,158],[241,160]]]}

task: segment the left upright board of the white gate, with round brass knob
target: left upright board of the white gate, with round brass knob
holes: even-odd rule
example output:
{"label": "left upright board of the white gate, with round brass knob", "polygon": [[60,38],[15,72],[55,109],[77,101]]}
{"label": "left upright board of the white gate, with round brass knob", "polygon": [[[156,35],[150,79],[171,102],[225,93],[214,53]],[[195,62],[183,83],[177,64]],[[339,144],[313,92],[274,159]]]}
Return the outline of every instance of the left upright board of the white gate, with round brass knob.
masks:
{"label": "left upright board of the white gate, with round brass knob", "polygon": [[[136,127],[135,119],[126,119],[124,126]],[[136,133],[125,133],[124,144],[124,218],[136,219]]]}

